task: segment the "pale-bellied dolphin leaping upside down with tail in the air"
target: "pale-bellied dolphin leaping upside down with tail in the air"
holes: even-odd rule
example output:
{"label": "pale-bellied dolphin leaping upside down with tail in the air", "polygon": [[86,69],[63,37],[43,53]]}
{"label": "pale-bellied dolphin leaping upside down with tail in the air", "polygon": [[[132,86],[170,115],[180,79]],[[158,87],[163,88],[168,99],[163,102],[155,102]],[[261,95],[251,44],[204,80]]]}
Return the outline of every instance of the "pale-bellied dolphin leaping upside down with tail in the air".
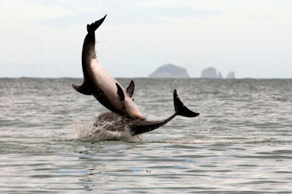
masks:
{"label": "pale-bellied dolphin leaping upside down with tail in the air", "polygon": [[[106,15],[107,16],[107,15]],[[127,90],[123,88],[99,64],[95,54],[95,30],[103,23],[106,16],[87,25],[82,49],[82,70],[84,82],[74,85],[73,88],[84,95],[92,95],[110,111],[131,119],[145,120],[137,105],[131,99],[134,93],[134,81],[131,81]]]}

